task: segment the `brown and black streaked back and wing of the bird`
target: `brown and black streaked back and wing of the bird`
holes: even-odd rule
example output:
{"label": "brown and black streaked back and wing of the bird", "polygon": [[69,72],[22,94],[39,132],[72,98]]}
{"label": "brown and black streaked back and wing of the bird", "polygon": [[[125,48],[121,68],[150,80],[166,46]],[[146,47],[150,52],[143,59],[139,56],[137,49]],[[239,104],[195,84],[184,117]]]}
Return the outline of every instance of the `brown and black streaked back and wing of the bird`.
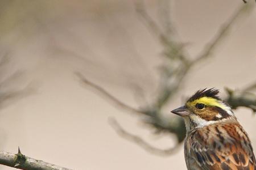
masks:
{"label": "brown and black streaked back and wing of the bird", "polygon": [[256,170],[253,148],[240,124],[213,124],[187,138],[188,157],[201,169]]}

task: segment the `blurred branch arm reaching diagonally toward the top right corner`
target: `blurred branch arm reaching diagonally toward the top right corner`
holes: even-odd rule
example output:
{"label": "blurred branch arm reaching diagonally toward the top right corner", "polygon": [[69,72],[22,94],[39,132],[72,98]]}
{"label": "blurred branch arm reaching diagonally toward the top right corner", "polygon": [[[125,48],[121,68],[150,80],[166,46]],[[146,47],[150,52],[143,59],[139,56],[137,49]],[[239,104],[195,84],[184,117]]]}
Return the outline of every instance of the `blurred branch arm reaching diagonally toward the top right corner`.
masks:
{"label": "blurred branch arm reaching diagonally toward the top right corner", "polygon": [[203,51],[193,62],[199,62],[202,59],[206,59],[211,56],[213,51],[216,49],[217,45],[220,44],[221,40],[224,39],[226,33],[229,31],[231,25],[237,21],[237,19],[244,14],[245,12],[251,11],[251,5],[242,5],[236,12],[234,12],[233,16],[228,20],[228,22],[224,23],[219,31],[217,32],[216,36],[213,37],[213,40],[210,40],[207,45],[203,48]]}

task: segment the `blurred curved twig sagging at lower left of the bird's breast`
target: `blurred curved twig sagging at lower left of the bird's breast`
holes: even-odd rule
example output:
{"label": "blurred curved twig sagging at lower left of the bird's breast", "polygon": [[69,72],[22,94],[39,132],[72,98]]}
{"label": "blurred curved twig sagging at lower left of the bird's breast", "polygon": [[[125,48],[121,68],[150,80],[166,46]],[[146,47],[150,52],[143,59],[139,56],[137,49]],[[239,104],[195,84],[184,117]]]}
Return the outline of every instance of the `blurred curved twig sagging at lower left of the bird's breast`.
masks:
{"label": "blurred curved twig sagging at lower left of the bird's breast", "polygon": [[115,130],[115,132],[122,138],[125,138],[131,142],[136,143],[137,145],[141,146],[144,150],[151,152],[152,154],[161,155],[161,156],[168,156],[171,154],[175,154],[176,151],[179,150],[180,143],[175,145],[174,147],[168,148],[166,150],[162,150],[151,146],[149,143],[144,141],[142,138],[138,137],[137,135],[130,134],[126,130],[124,130],[118,122],[114,118],[109,118],[109,124]]}

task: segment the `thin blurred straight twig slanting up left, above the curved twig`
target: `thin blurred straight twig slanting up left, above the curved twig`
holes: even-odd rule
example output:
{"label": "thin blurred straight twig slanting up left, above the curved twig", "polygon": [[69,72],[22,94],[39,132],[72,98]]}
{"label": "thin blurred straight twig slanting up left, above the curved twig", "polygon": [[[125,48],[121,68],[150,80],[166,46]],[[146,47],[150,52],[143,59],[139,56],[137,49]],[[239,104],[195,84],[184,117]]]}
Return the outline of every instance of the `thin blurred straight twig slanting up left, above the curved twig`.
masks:
{"label": "thin blurred straight twig slanting up left, above the curved twig", "polygon": [[113,95],[109,94],[104,88],[98,86],[97,84],[94,84],[90,82],[88,79],[86,79],[81,73],[75,73],[78,78],[82,81],[82,83],[94,88],[94,90],[100,92],[101,95],[105,96],[107,99],[112,101],[117,107],[125,109],[126,111],[129,111],[131,113],[139,113],[139,114],[144,114],[143,111],[139,111],[138,109],[132,108],[129,105],[123,103],[122,101],[118,100],[115,98]]}

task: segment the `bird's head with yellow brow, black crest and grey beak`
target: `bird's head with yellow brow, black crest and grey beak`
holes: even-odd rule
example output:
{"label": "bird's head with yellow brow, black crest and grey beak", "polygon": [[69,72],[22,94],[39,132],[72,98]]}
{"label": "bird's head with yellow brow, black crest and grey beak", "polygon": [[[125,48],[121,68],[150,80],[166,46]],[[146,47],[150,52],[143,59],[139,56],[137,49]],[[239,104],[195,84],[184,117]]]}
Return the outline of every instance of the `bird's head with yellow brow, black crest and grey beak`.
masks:
{"label": "bird's head with yellow brow, black crest and grey beak", "polygon": [[190,126],[189,129],[235,118],[229,105],[218,97],[218,92],[215,88],[199,90],[185,105],[171,112],[184,117],[187,128]]}

